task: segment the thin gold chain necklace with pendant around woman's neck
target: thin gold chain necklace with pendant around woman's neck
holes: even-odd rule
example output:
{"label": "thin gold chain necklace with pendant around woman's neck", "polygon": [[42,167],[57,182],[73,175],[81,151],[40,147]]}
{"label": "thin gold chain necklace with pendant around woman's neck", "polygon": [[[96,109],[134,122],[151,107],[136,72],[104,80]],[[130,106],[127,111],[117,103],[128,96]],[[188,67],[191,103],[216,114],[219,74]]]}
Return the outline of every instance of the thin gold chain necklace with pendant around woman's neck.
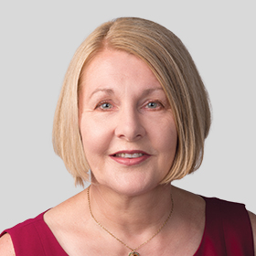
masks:
{"label": "thin gold chain necklace with pendant around woman's neck", "polygon": [[[91,187],[91,186],[90,186]],[[125,247],[127,247],[129,250],[131,250],[131,252],[129,253],[128,256],[140,256],[139,252],[137,252],[137,250],[139,248],[141,248],[144,244],[146,244],[147,242],[149,242],[150,240],[154,239],[155,236],[165,227],[167,221],[171,218],[172,216],[172,213],[174,211],[174,207],[175,207],[175,204],[174,204],[174,199],[173,199],[173,196],[171,194],[171,201],[172,201],[172,208],[171,208],[171,211],[167,217],[167,219],[165,219],[165,222],[162,224],[162,226],[155,232],[155,234],[148,240],[144,241],[144,243],[142,243],[141,245],[139,245],[138,247],[136,248],[132,248],[130,246],[128,246],[126,243],[123,242],[123,240],[120,240],[119,238],[117,238],[116,236],[114,236],[112,234],[111,231],[109,231],[108,229],[106,229],[104,226],[102,226],[102,224],[97,220],[95,219],[95,217],[93,216],[92,214],[92,211],[91,211],[91,201],[90,201],[90,187],[88,187],[87,189],[87,197],[88,197],[88,205],[89,205],[89,210],[90,210],[90,213],[91,213],[91,218],[94,219],[94,221],[101,227],[101,229],[104,229],[106,232],[108,232],[115,240],[118,240],[119,242],[121,242]]]}

